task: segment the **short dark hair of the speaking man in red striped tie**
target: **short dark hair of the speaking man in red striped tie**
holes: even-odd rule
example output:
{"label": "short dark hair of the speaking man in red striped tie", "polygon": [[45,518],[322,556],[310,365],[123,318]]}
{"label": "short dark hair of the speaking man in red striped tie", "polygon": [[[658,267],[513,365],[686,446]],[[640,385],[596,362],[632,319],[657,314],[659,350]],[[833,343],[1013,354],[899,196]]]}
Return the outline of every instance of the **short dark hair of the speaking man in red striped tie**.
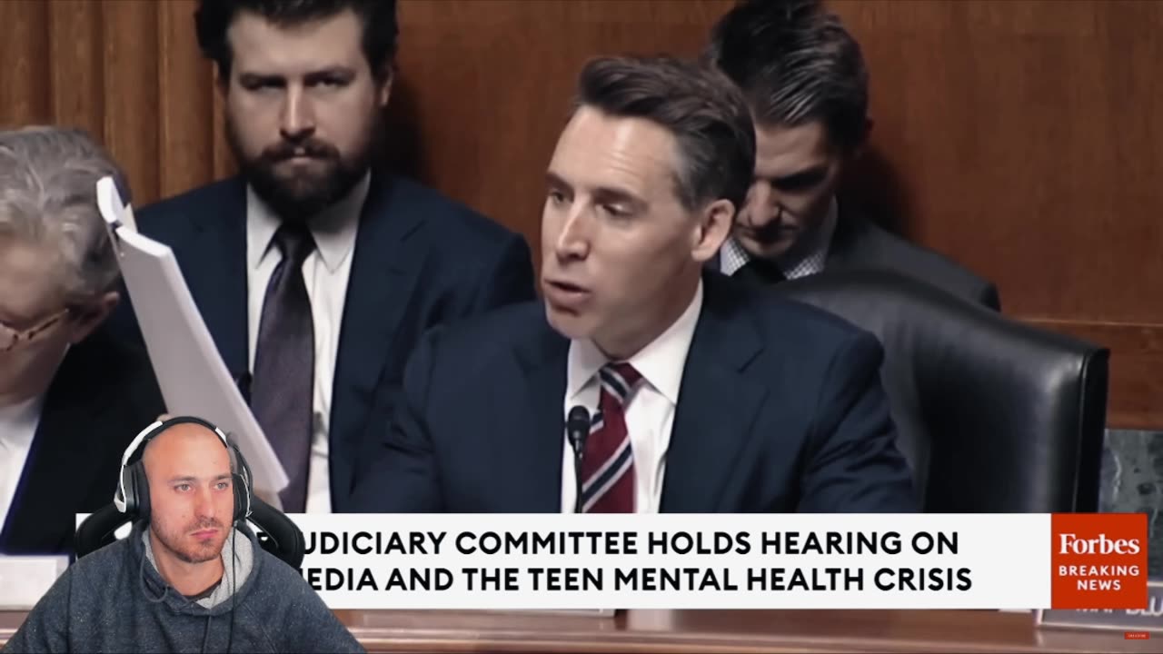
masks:
{"label": "short dark hair of the speaking man in red striped tie", "polygon": [[755,127],[721,73],[671,57],[601,57],[578,79],[577,106],[641,118],[678,142],[677,191],[687,209],[720,198],[743,206],[755,170]]}

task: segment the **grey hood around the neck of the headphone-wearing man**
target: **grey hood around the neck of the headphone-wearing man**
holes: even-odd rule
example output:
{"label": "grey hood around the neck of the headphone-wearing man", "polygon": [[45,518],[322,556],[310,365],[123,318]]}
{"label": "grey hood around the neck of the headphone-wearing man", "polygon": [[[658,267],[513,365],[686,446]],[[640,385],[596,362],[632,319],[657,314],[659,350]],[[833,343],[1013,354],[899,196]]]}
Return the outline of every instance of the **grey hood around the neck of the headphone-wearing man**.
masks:
{"label": "grey hood around the neck of the headphone-wearing man", "polygon": [[254,585],[262,557],[256,556],[258,540],[245,527],[235,527],[222,546],[222,580],[208,596],[192,600],[162,578],[149,540],[149,523],[134,525],[127,539],[140,567],[142,591],[150,602],[164,602],[174,613],[187,616],[220,616],[229,612],[235,602],[242,600]]}

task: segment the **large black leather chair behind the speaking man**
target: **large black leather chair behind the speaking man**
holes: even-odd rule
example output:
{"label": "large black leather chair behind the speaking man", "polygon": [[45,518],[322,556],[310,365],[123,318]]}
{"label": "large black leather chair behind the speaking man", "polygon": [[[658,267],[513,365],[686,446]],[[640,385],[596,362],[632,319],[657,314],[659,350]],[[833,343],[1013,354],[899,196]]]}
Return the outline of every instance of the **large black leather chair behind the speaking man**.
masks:
{"label": "large black leather chair behind the speaking man", "polygon": [[775,290],[880,339],[923,511],[1098,511],[1106,348],[890,271],[823,272]]}

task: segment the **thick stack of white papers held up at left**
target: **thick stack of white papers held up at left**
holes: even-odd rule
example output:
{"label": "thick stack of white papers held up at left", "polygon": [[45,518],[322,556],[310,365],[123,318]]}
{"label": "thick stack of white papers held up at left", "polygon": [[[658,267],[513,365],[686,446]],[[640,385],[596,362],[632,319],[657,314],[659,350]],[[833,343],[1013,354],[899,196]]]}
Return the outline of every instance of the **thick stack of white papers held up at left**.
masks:
{"label": "thick stack of white papers held up at left", "polygon": [[256,495],[281,509],[278,491],[287,485],[286,472],[222,362],[173,251],[137,233],[133,207],[112,178],[98,182],[97,198],[167,412],[230,433],[250,464]]}

